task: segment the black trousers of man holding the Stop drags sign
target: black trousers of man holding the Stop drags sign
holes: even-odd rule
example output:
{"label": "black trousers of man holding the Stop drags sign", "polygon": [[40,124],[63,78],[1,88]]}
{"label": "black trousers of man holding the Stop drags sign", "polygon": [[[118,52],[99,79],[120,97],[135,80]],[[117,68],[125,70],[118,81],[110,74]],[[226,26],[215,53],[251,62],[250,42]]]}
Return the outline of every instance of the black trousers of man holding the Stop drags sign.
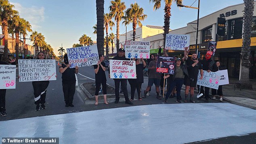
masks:
{"label": "black trousers of man holding the Stop drags sign", "polygon": [[128,97],[128,91],[127,91],[127,79],[114,79],[114,81],[115,81],[115,100],[119,101],[119,98],[120,98],[119,97],[119,87],[120,87],[120,82],[121,82],[121,87],[124,92],[125,101],[128,101],[129,97]]}

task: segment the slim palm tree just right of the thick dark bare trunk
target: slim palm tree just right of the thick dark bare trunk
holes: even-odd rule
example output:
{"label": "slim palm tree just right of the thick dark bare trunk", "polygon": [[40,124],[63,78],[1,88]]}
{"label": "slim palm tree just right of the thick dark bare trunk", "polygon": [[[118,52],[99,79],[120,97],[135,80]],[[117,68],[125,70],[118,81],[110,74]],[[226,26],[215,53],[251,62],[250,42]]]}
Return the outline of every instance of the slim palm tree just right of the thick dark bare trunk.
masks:
{"label": "slim palm tree just right of the thick dark bare trunk", "polygon": [[111,21],[112,19],[112,15],[109,15],[108,13],[104,14],[104,26],[106,27],[106,58],[109,59],[109,38],[108,38],[108,29],[110,27],[111,31],[112,31],[112,27],[113,25],[115,25],[115,23],[113,21]]}

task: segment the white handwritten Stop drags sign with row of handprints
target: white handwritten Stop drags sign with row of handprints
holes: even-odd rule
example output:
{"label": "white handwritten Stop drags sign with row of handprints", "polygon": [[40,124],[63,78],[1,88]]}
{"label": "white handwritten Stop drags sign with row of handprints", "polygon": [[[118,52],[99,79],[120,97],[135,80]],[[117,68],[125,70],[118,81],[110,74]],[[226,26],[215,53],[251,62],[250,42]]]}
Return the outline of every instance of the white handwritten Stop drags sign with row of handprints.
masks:
{"label": "white handwritten Stop drags sign with row of handprints", "polygon": [[111,79],[136,79],[135,61],[110,60]]}

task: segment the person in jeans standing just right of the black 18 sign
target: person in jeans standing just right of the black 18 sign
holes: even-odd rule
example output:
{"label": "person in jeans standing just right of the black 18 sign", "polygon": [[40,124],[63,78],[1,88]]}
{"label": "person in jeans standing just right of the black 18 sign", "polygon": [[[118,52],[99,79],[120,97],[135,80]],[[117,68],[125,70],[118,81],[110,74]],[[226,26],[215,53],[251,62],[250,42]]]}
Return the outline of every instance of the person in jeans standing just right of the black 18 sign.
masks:
{"label": "person in jeans standing just right of the black 18 sign", "polygon": [[166,93],[164,102],[167,102],[168,97],[170,96],[172,90],[176,86],[176,91],[177,91],[176,102],[181,103],[180,90],[184,83],[184,75],[189,76],[187,71],[187,66],[181,64],[181,58],[177,58],[177,62],[174,66],[174,75],[167,74],[166,76],[164,76],[164,79],[170,77],[170,88]]}

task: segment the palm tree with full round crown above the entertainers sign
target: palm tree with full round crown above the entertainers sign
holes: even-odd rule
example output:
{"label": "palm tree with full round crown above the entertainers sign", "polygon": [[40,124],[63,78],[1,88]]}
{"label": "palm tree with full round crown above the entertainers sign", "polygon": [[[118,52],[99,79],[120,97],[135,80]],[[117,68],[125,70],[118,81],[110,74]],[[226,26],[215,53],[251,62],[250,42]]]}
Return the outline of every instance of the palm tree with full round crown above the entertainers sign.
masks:
{"label": "palm tree with full round crown above the entertainers sign", "polygon": [[124,19],[124,23],[127,25],[127,23],[132,22],[132,40],[135,41],[135,35],[136,35],[136,26],[138,24],[139,27],[142,27],[141,21],[147,18],[147,15],[143,14],[143,8],[140,8],[138,4],[135,2],[134,4],[130,5],[130,8],[126,10],[126,17]]}

